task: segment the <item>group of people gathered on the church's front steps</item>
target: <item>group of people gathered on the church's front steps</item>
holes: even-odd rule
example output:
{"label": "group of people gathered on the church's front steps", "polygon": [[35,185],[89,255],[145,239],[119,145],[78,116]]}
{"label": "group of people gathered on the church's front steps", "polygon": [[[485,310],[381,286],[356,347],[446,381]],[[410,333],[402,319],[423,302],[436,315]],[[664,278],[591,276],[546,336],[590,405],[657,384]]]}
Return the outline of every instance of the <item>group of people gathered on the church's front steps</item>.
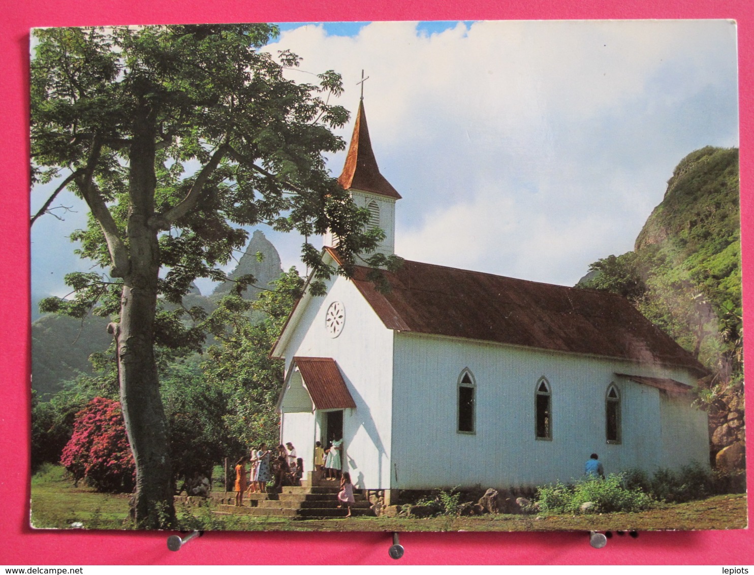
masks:
{"label": "group of people gathered on the church's front steps", "polygon": [[[346,506],[348,508],[346,517],[351,517],[351,504],[355,502],[354,485],[351,483],[351,475],[341,470],[342,442],[342,439],[333,441],[326,451],[322,444],[317,442],[314,446],[314,466],[318,471],[324,471],[328,480],[340,477],[338,507]],[[251,462],[251,469],[247,481],[246,463],[248,462]],[[304,460],[296,457],[296,448],[291,442],[278,445],[277,456],[262,443],[258,449],[251,451],[250,456],[244,455],[236,462],[235,472],[235,504],[243,506],[244,493],[265,493],[267,482],[272,478],[274,478],[274,488],[301,485],[301,479],[304,476]]]}

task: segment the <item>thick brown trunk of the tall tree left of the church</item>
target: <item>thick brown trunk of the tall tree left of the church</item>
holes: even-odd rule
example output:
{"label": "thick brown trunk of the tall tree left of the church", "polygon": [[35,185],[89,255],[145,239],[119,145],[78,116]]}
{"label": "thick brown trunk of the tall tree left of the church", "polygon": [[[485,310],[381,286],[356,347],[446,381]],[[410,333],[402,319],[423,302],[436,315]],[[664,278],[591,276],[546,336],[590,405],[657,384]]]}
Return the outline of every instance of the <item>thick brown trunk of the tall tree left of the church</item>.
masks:
{"label": "thick brown trunk of the tall tree left of the church", "polygon": [[157,232],[148,225],[156,183],[155,126],[150,115],[146,105],[136,112],[130,148],[130,268],[123,278],[118,362],[121,404],[136,461],[131,516],[137,527],[155,529],[174,525],[176,514],[167,418],[154,350],[160,255]]}

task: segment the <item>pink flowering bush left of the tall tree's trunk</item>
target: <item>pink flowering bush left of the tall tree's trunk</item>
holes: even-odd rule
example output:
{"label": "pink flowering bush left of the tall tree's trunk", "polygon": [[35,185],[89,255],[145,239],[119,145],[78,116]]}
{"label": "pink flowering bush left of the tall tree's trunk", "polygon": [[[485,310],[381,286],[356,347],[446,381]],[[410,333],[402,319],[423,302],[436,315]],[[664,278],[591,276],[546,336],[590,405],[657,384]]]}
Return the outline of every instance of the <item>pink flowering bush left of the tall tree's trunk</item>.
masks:
{"label": "pink flowering bush left of the tall tree's trunk", "polygon": [[84,479],[97,491],[133,491],[136,465],[120,402],[95,397],[76,414],[60,463],[76,483]]}

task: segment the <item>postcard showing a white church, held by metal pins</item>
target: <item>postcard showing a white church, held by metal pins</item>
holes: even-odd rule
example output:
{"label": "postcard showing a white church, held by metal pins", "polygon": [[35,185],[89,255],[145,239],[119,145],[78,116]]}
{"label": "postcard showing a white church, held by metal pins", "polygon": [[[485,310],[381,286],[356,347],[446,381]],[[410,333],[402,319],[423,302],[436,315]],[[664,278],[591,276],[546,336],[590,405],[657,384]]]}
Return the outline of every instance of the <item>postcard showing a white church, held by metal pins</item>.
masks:
{"label": "postcard showing a white church, held by metal pins", "polygon": [[32,30],[32,527],[746,528],[736,34]]}

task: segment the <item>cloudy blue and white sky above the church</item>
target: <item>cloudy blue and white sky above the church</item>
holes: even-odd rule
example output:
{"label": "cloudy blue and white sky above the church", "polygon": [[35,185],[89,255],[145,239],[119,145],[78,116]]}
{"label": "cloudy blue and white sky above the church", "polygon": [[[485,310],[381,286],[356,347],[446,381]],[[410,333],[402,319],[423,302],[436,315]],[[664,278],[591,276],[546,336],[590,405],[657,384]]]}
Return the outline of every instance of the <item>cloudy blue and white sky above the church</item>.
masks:
{"label": "cloudy blue and white sky above the church", "polygon": [[[268,50],[303,58],[297,81],[334,69],[358,105],[397,202],[396,252],[422,262],[573,285],[633,249],[673,167],[736,146],[736,32],[725,20],[282,24]],[[352,124],[340,135],[350,138]],[[328,158],[339,175],[345,153]],[[32,191],[32,210],[44,190]],[[32,229],[32,293],[62,295],[88,269],[65,238]],[[302,238],[270,233],[284,267]],[[230,266],[232,267],[232,266]],[[208,282],[200,283],[204,293]]]}

